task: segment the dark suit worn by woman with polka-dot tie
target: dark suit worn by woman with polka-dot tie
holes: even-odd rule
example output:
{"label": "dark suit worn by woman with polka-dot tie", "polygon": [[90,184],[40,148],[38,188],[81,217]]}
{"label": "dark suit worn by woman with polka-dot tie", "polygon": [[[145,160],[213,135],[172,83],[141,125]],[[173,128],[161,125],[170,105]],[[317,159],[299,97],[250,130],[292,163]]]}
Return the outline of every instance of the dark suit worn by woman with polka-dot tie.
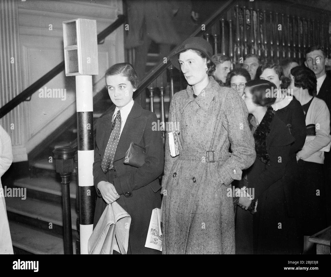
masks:
{"label": "dark suit worn by woman with polka-dot tie", "polygon": [[[97,184],[100,181],[111,182],[120,195],[117,203],[131,216],[128,254],[161,254],[160,251],[145,247],[152,210],[161,207],[161,185],[158,177],[163,172],[164,151],[160,131],[152,128],[157,123],[157,117],[134,101],[118,141],[113,178],[110,171],[103,173],[100,164],[112,129],[114,110],[101,117],[97,123],[93,178],[98,198],[94,226],[107,206]],[[146,149],[145,164],[140,168],[123,164],[131,142]]]}

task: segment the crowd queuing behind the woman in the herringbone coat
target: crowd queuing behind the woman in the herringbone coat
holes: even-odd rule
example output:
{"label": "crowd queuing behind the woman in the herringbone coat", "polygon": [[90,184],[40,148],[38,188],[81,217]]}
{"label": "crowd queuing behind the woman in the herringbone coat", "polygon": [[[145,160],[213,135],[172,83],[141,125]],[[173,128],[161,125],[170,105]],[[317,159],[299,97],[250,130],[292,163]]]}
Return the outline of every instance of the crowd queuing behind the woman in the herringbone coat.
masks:
{"label": "crowd queuing behind the woman in the herringbone coat", "polygon": [[[215,64],[228,59],[221,54],[212,57]],[[260,181],[263,181],[264,187],[264,194],[255,192],[260,213],[251,215],[244,210],[236,211],[237,253],[313,253],[309,236],[331,224],[331,78],[325,70],[327,63],[327,55],[319,46],[307,49],[302,66],[294,58],[283,59],[279,63],[261,62],[257,55],[250,54],[242,66],[228,72],[225,82],[219,82],[221,86],[235,89],[245,103],[252,104],[247,105],[248,121],[255,138],[257,159],[243,172],[245,178],[240,182],[234,181],[233,185],[249,187],[253,184],[259,191]],[[220,64],[218,67],[223,66]],[[216,72],[213,77],[220,80]],[[276,97],[266,99],[269,101],[259,100],[259,92],[264,95],[268,85],[270,91],[276,92]],[[266,112],[261,112],[263,116],[259,120],[256,110],[261,109]],[[273,133],[273,125],[270,125],[267,131],[270,133],[263,144],[260,141],[260,124],[263,123],[262,118],[265,119],[264,114],[270,110],[278,118],[273,128],[279,130]],[[281,130],[284,126],[285,129]],[[276,145],[268,142],[271,138]],[[266,145],[266,149],[261,145]],[[276,146],[282,147],[274,153]],[[262,150],[268,153],[269,165],[268,159],[264,159],[263,164],[263,159],[258,158]],[[277,161],[279,157],[281,162]],[[277,162],[272,164],[272,159]],[[263,178],[274,179],[268,182]],[[278,229],[274,228],[277,222],[281,224]]]}

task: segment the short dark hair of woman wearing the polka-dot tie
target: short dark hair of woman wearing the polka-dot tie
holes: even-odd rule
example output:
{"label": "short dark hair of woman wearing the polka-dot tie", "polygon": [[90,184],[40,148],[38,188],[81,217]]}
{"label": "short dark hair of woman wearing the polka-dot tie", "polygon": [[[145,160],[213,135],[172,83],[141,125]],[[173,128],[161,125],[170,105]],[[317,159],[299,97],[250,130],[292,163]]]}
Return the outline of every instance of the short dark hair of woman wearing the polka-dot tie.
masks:
{"label": "short dark hair of woman wearing the polka-dot tie", "polygon": [[107,84],[107,77],[113,75],[125,76],[130,81],[134,89],[137,89],[139,87],[140,84],[139,76],[137,72],[134,70],[131,63],[128,62],[116,63],[112,65],[110,68],[108,68],[108,70],[105,73],[106,84]]}

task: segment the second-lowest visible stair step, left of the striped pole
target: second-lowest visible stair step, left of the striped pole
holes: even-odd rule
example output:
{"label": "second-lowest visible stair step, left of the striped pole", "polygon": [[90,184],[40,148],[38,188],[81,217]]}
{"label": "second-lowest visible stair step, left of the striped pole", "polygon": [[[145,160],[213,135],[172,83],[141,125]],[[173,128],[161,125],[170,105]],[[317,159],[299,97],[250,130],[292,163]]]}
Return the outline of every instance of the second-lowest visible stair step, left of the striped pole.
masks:
{"label": "second-lowest visible stair step, left of the striped pole", "polygon": [[[6,206],[8,212],[16,214],[18,217],[21,216],[37,219],[38,221],[41,221],[40,223],[43,223],[43,226],[49,226],[49,223],[63,226],[63,209],[60,205],[29,198],[22,200],[19,197],[6,197]],[[78,215],[75,208],[71,206],[72,230],[77,230],[77,217]]]}

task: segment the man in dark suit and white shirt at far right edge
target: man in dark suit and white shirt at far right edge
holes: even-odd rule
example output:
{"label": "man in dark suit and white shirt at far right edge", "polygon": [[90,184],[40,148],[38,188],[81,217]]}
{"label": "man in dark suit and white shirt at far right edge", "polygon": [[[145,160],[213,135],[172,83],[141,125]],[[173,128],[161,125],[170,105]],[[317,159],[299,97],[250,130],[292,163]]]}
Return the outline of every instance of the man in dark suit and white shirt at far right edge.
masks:
{"label": "man in dark suit and white shirt at far right edge", "polygon": [[[319,46],[311,46],[307,49],[305,55],[305,65],[314,71],[317,79],[316,95],[317,98],[323,99],[329,108],[331,114],[331,77],[325,72],[325,65],[329,62],[324,50]],[[330,124],[331,127],[331,124]],[[324,152],[324,172],[326,182],[326,209],[328,225],[331,224],[331,154]]]}

